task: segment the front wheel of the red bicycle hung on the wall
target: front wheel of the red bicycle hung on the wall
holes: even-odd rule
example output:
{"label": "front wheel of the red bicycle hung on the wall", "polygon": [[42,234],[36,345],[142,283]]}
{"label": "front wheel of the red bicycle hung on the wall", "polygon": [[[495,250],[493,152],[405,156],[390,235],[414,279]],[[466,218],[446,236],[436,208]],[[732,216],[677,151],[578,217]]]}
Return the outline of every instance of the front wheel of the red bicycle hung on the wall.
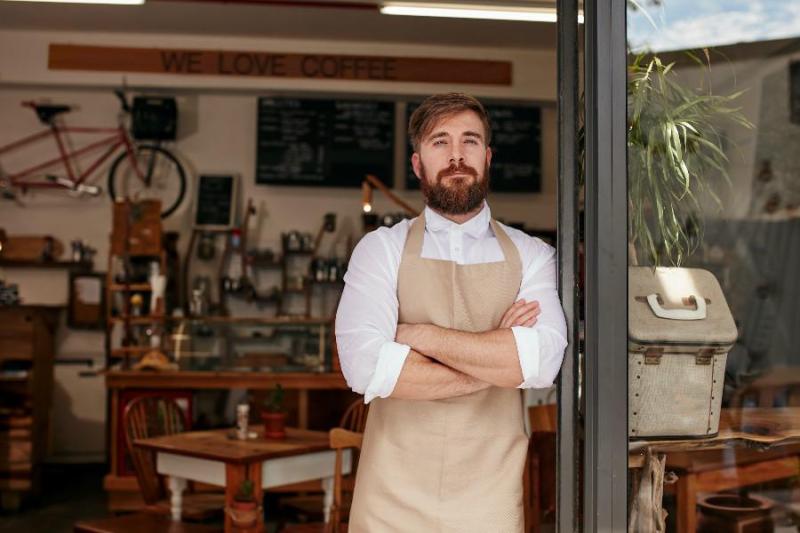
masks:
{"label": "front wheel of the red bicycle hung on the wall", "polygon": [[135,150],[144,179],[134,170],[128,152],[122,152],[108,171],[108,194],[112,200],[160,200],[161,218],[167,218],[186,194],[186,172],[178,159],[160,146],[139,145]]}

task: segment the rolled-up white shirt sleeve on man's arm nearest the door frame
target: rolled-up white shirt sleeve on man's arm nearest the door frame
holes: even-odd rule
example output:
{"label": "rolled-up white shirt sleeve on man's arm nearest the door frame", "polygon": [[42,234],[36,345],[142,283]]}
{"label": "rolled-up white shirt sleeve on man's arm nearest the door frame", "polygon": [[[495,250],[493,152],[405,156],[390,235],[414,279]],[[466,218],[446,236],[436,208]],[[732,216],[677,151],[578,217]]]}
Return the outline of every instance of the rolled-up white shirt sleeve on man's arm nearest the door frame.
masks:
{"label": "rolled-up white shirt sleeve on man's arm nearest the door frame", "polygon": [[555,249],[542,241],[531,243],[532,259],[525,269],[517,299],[537,300],[541,314],[531,327],[512,327],[522,368],[521,389],[553,384],[567,347],[567,324],[556,288]]}

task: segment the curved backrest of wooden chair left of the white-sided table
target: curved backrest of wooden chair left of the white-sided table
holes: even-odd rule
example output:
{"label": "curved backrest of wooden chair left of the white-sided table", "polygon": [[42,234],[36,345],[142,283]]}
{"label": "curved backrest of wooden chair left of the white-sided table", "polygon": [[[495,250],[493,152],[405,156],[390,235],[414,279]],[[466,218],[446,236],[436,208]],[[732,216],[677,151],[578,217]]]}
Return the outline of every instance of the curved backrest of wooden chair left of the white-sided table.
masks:
{"label": "curved backrest of wooden chair left of the white-sided table", "polygon": [[181,408],[172,398],[143,396],[125,408],[123,415],[125,446],[130,454],[142,497],[153,505],[166,497],[164,480],[156,471],[155,454],[133,445],[136,439],[180,433],[188,426]]}

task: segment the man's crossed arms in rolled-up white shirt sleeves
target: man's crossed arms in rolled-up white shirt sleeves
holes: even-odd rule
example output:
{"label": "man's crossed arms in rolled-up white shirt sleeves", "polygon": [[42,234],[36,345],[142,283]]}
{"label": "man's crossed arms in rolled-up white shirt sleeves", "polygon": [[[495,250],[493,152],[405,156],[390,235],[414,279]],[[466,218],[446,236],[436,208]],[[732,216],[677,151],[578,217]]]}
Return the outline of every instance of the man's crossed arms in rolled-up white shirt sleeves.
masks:
{"label": "man's crossed arms in rolled-up white shirt sleeves", "polygon": [[350,388],[370,402],[449,398],[489,386],[550,386],[566,346],[554,250],[540,241],[527,243],[521,249],[520,301],[497,329],[471,333],[399,323],[404,237],[369,233],[350,258],[336,314],[339,361]]}

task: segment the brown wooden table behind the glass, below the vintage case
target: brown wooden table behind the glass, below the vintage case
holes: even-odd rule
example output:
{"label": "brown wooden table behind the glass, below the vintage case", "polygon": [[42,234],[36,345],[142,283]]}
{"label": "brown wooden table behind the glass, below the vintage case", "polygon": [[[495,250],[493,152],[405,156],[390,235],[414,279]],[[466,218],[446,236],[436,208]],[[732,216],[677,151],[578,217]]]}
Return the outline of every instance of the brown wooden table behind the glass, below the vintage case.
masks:
{"label": "brown wooden table behind the glass, below the vintage case", "polygon": [[786,479],[800,471],[800,407],[723,409],[720,431],[708,439],[633,441],[629,466],[646,451],[666,456],[678,474],[677,531],[697,527],[697,495]]}

